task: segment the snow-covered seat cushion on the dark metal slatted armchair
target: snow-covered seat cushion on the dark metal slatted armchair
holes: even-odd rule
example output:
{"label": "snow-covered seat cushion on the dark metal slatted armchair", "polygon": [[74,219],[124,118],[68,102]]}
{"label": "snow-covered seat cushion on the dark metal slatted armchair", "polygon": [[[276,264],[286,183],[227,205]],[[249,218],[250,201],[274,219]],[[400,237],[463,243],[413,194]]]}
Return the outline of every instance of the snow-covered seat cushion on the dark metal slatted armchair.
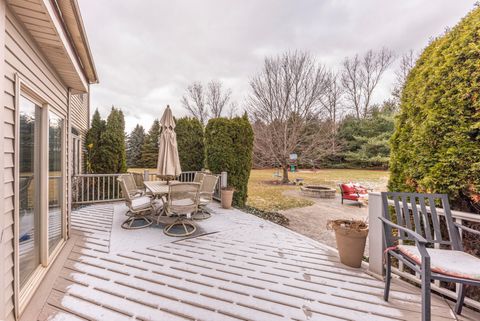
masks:
{"label": "snow-covered seat cushion on the dark metal slatted armchair", "polygon": [[[414,245],[399,245],[402,254],[420,264],[422,256]],[[457,278],[480,280],[480,259],[462,251],[427,249],[433,272]]]}

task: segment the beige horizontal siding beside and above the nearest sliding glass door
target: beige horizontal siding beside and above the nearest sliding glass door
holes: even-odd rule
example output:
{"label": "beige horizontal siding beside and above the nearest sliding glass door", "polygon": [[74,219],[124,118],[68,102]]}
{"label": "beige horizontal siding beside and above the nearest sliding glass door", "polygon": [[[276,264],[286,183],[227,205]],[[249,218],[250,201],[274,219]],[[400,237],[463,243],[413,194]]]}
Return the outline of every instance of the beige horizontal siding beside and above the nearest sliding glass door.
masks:
{"label": "beige horizontal siding beside and above the nearest sliding glass door", "polygon": [[[15,74],[39,93],[59,114],[67,116],[68,90],[46,62],[23,26],[8,10],[5,21],[5,62],[3,79],[3,285],[6,320],[13,320],[14,293],[14,173],[15,173]],[[80,119],[81,117],[79,117]],[[0,291],[2,291],[0,290]],[[1,319],[1,316],[0,316]]]}

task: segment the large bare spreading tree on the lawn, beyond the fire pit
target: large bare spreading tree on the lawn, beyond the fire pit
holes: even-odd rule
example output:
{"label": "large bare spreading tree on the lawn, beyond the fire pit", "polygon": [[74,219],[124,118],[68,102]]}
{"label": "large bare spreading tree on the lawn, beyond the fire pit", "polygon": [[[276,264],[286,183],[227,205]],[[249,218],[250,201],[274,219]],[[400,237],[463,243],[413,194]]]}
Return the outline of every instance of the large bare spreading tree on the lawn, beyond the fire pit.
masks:
{"label": "large bare spreading tree on the lawn, beyond the fire pit", "polygon": [[308,53],[266,58],[263,70],[250,81],[247,111],[255,131],[256,160],[280,165],[288,182],[289,156],[316,154],[318,131],[309,130],[321,111],[326,72]]}

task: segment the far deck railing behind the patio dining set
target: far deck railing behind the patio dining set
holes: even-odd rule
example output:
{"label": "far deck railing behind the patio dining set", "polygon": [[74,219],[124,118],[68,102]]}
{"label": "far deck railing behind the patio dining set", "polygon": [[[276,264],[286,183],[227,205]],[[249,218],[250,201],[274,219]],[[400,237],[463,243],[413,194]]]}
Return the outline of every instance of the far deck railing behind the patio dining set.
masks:
{"label": "far deck railing behind the patio dining set", "polygon": [[[183,172],[178,177],[181,182],[192,182],[194,171]],[[123,199],[120,184],[117,178],[122,174],[79,174],[72,178],[72,203],[86,205],[101,202],[113,202]],[[227,173],[215,174],[219,177],[215,187],[214,199],[220,200],[221,188],[227,186]],[[143,172],[144,180],[160,180],[155,173],[148,170]]]}

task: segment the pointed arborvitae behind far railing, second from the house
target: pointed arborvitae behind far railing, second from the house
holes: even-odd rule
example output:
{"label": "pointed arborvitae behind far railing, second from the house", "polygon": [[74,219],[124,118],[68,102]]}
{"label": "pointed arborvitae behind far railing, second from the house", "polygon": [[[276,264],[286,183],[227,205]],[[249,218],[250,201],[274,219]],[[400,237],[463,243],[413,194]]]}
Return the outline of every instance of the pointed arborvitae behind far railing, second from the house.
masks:
{"label": "pointed arborvitae behind far railing, second from the house", "polygon": [[125,173],[127,171],[125,119],[120,109],[112,107],[100,140],[104,151],[103,173]]}

